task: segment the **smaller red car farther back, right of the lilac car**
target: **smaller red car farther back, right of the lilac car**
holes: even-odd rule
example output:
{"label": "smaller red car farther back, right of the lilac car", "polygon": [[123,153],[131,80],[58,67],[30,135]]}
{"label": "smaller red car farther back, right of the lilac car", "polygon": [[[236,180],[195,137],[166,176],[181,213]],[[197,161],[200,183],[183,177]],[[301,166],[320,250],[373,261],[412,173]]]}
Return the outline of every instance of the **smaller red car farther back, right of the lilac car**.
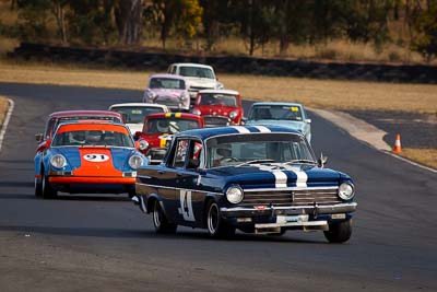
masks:
{"label": "smaller red car farther back, right of the lilac car", "polygon": [[203,90],[198,93],[191,113],[204,118],[205,127],[235,126],[244,115],[237,91]]}

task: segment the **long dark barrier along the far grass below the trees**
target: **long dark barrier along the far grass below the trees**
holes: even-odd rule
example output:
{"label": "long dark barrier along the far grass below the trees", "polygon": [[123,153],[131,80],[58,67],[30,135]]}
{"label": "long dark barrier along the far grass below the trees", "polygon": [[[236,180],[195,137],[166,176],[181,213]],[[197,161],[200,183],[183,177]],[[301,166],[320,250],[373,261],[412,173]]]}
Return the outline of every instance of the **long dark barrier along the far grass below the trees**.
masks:
{"label": "long dark barrier along the far grass below the trees", "polygon": [[12,58],[83,62],[164,71],[172,62],[200,62],[222,73],[246,73],[317,79],[437,83],[436,66],[317,62],[251,57],[188,56],[101,48],[79,48],[22,43]]}

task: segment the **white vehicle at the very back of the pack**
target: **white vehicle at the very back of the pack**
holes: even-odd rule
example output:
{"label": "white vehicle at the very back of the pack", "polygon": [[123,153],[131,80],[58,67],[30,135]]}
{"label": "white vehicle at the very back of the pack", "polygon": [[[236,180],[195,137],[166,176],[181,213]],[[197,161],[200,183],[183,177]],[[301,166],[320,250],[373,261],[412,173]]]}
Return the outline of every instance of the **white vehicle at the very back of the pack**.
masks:
{"label": "white vehicle at the very back of the pack", "polygon": [[167,73],[185,77],[188,92],[190,93],[191,105],[194,104],[196,96],[201,90],[221,90],[223,84],[215,77],[211,66],[202,63],[179,62],[172,63]]}

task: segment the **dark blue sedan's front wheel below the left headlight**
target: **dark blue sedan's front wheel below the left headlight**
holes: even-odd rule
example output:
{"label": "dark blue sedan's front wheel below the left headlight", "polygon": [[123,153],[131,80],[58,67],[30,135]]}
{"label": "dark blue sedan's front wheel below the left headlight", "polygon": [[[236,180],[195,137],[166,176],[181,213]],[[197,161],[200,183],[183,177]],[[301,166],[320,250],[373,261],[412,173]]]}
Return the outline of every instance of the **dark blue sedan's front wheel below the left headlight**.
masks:
{"label": "dark blue sedan's front wheel below the left headlight", "polygon": [[216,202],[211,201],[206,207],[206,229],[213,238],[227,238],[235,234],[235,227],[227,224],[220,214]]}

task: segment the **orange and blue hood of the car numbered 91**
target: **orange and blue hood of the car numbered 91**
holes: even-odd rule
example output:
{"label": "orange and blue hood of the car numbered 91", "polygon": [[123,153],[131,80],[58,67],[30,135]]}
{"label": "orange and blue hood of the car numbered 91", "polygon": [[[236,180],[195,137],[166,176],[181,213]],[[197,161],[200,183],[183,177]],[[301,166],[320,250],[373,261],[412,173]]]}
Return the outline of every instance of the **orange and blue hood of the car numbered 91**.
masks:
{"label": "orange and blue hood of the car numbered 91", "polygon": [[[128,167],[129,157],[137,152],[132,148],[109,148],[109,147],[62,147],[51,148],[51,154],[62,154],[71,170],[96,166],[113,167],[123,171]],[[95,155],[97,159],[85,159]],[[104,157],[104,159],[102,159]]]}

